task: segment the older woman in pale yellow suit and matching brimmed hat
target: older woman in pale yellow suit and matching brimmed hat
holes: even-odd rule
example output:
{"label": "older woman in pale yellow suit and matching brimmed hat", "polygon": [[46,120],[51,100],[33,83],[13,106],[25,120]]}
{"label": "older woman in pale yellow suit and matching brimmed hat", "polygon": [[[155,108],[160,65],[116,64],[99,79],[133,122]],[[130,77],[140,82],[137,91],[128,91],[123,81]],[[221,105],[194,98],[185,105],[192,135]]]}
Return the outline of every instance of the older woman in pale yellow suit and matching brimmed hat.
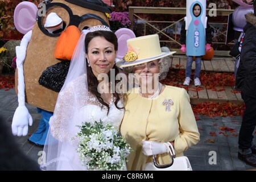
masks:
{"label": "older woman in pale yellow suit and matching brimmed hat", "polygon": [[121,134],[133,148],[127,169],[143,170],[152,155],[159,154],[160,164],[171,162],[167,142],[174,146],[176,156],[182,156],[199,142],[200,134],[186,90],[159,82],[159,75],[166,76],[164,70],[170,67],[166,56],[175,52],[162,52],[158,35],[129,39],[127,46],[128,52],[117,66],[133,73],[139,87],[125,95]]}

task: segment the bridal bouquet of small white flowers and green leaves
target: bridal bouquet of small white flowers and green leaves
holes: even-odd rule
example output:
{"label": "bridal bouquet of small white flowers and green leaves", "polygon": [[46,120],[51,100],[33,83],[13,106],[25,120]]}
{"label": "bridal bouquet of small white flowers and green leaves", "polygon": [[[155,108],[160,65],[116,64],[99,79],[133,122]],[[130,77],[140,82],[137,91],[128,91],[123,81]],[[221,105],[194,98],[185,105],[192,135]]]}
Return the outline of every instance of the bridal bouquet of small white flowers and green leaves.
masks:
{"label": "bridal bouquet of small white flowers and green leaves", "polygon": [[131,147],[126,143],[114,126],[103,125],[102,121],[85,122],[79,126],[81,131],[75,138],[79,139],[77,152],[80,160],[90,171],[125,170],[126,156]]}

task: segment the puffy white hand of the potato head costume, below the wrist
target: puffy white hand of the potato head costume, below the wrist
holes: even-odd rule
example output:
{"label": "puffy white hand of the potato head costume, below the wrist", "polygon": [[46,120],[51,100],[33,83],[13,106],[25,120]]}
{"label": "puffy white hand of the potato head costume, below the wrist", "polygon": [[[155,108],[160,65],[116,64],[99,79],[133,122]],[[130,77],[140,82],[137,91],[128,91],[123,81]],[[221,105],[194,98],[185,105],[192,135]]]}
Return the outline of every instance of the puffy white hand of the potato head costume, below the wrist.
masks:
{"label": "puffy white hand of the potato head costume, below the wrist", "polygon": [[28,131],[28,123],[32,126],[33,119],[28,113],[27,107],[22,105],[18,106],[13,115],[13,123],[11,123],[11,130],[14,135],[26,136]]}

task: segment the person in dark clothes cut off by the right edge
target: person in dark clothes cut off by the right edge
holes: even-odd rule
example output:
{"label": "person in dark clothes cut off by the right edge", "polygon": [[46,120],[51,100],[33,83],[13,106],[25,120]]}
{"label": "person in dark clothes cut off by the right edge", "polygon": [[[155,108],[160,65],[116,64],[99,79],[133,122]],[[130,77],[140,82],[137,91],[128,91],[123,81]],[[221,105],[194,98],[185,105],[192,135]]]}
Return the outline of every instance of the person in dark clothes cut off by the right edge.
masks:
{"label": "person in dark clothes cut off by the right edge", "polygon": [[240,65],[237,69],[236,88],[241,90],[245,101],[242,125],[239,132],[238,159],[256,167],[256,146],[253,143],[253,133],[256,126],[256,3],[254,13],[246,15],[246,26],[243,28],[245,37],[241,49]]}

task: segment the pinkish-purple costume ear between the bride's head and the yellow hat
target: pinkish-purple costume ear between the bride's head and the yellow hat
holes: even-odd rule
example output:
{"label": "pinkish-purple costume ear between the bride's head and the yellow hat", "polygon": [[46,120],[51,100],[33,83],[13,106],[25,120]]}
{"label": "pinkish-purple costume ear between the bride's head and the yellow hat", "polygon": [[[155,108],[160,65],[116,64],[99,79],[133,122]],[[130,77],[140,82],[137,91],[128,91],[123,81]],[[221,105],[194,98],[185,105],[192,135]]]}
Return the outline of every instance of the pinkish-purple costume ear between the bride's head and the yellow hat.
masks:
{"label": "pinkish-purple costume ear between the bride's head and the yellow hat", "polygon": [[126,40],[135,38],[135,34],[129,28],[120,28],[115,32],[115,35],[118,39],[118,51],[117,51],[117,59],[122,59],[125,56],[125,53],[128,51]]}

